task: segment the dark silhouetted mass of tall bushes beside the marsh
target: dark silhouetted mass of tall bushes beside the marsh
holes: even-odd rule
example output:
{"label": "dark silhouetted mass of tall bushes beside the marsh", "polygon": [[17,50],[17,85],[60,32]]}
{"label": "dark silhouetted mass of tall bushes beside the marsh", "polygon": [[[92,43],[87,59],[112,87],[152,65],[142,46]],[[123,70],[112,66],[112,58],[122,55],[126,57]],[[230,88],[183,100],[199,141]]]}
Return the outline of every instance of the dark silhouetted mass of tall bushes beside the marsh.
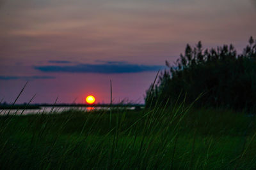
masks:
{"label": "dark silhouetted mass of tall bushes beside the marsh", "polygon": [[237,110],[256,109],[256,40],[252,37],[241,54],[234,46],[204,49],[186,46],[184,54],[146,92],[150,104],[193,103],[195,106],[225,107]]}

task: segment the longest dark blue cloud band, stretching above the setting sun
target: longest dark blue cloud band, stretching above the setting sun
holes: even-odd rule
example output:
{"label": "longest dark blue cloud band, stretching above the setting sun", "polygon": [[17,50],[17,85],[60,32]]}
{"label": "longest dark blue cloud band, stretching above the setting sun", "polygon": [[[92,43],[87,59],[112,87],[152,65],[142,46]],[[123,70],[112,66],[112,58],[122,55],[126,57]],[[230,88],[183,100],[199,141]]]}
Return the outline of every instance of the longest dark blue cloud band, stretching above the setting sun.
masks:
{"label": "longest dark blue cloud band, stretching above the setting sun", "polygon": [[124,62],[107,62],[106,64],[77,64],[75,66],[35,66],[43,72],[66,72],[66,73],[140,73],[145,71],[157,71],[164,66],[138,65]]}

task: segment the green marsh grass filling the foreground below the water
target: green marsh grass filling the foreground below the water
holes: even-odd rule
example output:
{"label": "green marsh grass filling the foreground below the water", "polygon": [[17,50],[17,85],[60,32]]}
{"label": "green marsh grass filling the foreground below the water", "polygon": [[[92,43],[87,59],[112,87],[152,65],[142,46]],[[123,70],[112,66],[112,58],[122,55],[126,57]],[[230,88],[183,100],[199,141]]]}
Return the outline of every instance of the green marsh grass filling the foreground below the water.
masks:
{"label": "green marsh grass filling the foreground below the water", "polygon": [[256,169],[255,123],[182,106],[2,116],[0,169]]}

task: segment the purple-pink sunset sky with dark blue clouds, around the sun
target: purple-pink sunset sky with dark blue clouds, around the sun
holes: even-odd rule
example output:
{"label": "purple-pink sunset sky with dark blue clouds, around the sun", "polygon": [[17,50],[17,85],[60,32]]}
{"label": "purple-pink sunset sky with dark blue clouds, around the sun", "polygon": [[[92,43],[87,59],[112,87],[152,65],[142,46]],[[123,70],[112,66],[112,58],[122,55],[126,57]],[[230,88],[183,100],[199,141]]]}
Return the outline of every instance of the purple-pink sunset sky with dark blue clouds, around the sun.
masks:
{"label": "purple-pink sunset sky with dark blue clouds, around the sun", "polygon": [[256,38],[255,0],[0,0],[0,100],[144,103],[186,44]]}

